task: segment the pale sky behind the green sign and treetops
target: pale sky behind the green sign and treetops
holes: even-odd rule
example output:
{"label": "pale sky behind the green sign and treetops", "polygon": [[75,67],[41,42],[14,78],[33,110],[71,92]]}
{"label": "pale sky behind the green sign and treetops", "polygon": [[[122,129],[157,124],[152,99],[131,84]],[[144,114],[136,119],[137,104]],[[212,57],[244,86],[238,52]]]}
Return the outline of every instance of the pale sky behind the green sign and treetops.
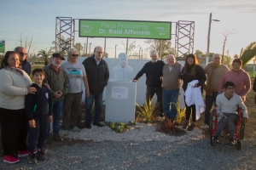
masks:
{"label": "pale sky behind the green sign and treetops", "polygon": [[[56,17],[72,17],[73,19],[96,20],[151,20],[195,21],[195,50],[207,52],[207,34],[209,16],[212,13],[210,52],[222,54],[224,35],[232,31],[225,45],[225,54],[240,54],[241,48],[246,48],[250,42],[256,41],[256,1],[255,0],[0,0],[0,40],[5,40],[5,50],[13,50],[19,45],[19,37],[32,37],[32,49],[38,53],[40,49],[49,49],[54,45]],[[79,28],[79,20],[76,20]],[[175,25],[172,24],[172,34]],[[172,47],[175,47],[175,37],[172,37]],[[142,39],[131,39],[143,47],[143,53],[148,46]],[[84,45],[86,37],[79,37],[76,32],[75,42]],[[124,38],[108,38],[106,51],[109,57],[124,53],[121,42]],[[91,49],[104,45],[104,38],[89,38]],[[135,49],[138,52],[139,47]],[[89,51],[89,49],[88,49]]]}

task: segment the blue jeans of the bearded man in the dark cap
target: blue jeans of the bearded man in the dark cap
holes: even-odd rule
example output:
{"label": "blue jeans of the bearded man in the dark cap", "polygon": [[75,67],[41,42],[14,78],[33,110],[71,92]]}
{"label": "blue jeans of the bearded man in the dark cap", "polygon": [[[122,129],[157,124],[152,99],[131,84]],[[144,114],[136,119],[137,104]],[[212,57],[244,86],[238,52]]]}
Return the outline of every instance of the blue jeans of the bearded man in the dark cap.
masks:
{"label": "blue jeans of the bearded man in the dark cap", "polygon": [[[61,117],[62,106],[63,106],[63,99],[52,102],[52,111],[53,111],[52,129],[54,134],[57,134],[60,131],[60,117]],[[48,123],[48,135],[49,135],[49,130],[50,130],[50,123]]]}

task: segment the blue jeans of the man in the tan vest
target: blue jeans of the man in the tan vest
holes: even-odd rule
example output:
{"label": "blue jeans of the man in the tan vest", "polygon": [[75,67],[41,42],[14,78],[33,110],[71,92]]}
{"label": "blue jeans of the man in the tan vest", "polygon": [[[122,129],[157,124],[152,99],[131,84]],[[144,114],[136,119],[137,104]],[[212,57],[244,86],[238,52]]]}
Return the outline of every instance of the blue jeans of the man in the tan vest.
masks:
{"label": "blue jeans of the man in the tan vest", "polygon": [[177,104],[179,89],[166,90],[165,88],[163,88],[162,92],[164,113],[169,119],[175,118],[175,116],[177,115],[177,108],[174,104]]}

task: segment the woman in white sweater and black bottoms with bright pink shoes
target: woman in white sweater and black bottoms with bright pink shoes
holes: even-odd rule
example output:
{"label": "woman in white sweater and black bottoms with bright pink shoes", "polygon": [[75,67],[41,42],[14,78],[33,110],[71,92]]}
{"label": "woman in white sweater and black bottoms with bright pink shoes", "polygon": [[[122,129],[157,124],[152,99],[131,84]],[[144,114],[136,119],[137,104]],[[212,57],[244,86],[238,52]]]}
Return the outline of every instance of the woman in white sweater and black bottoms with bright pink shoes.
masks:
{"label": "woman in white sweater and black bottoms with bright pink shoes", "polygon": [[18,156],[28,155],[26,145],[28,121],[25,95],[33,94],[32,81],[20,69],[19,55],[8,51],[0,67],[0,122],[2,130],[3,161],[15,163]]}

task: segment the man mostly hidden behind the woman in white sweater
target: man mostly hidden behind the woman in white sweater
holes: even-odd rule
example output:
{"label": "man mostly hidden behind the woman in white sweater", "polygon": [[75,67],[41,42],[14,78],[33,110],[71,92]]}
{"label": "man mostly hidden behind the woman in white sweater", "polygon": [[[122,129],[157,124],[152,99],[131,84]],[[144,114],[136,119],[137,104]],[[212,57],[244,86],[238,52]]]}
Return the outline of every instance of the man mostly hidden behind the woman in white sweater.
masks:
{"label": "man mostly hidden behind the woman in white sweater", "polygon": [[16,47],[15,52],[19,54],[20,63],[22,65],[22,70],[26,71],[28,76],[30,76],[31,73],[31,65],[29,62],[26,61],[26,48],[23,47]]}

